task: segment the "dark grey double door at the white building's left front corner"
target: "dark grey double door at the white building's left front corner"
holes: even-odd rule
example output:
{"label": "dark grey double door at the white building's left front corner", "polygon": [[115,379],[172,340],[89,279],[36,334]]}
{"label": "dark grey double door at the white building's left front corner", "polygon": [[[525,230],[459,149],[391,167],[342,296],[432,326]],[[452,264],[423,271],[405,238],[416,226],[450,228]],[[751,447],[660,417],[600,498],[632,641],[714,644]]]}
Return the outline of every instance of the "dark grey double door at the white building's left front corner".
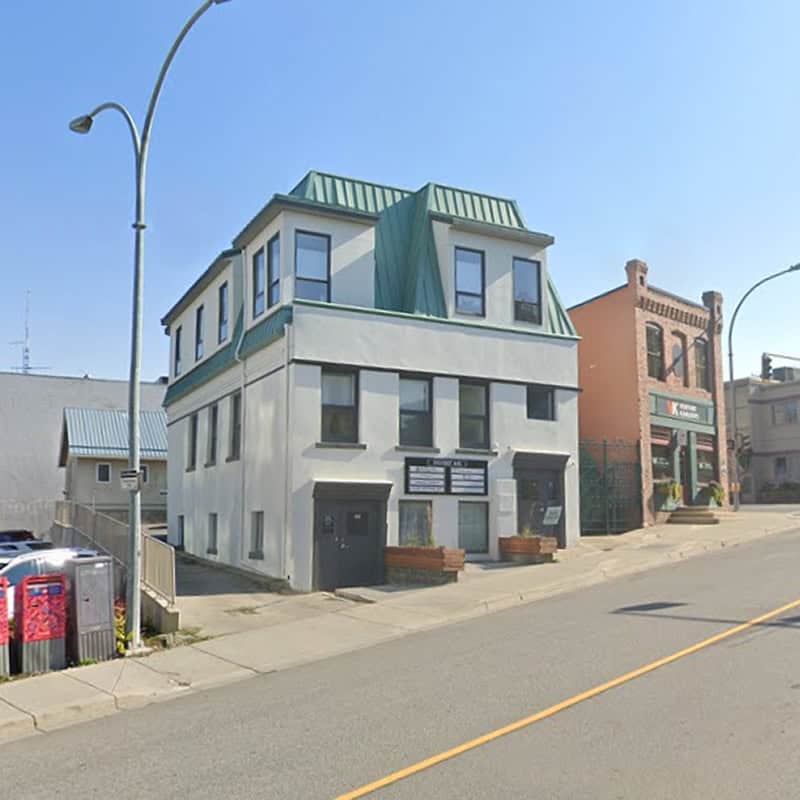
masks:
{"label": "dark grey double door at the white building's left front corner", "polygon": [[316,502],[314,584],[322,591],[383,580],[382,503]]}

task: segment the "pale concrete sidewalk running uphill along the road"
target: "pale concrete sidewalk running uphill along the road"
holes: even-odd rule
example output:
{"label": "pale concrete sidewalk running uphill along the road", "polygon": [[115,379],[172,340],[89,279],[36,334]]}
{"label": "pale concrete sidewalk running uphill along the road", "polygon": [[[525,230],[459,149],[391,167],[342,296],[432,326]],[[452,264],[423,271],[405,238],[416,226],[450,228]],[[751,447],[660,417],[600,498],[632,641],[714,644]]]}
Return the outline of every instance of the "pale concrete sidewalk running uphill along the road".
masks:
{"label": "pale concrete sidewalk running uphill along the road", "polygon": [[[742,512],[716,526],[657,526],[591,537],[554,564],[469,564],[457,584],[370,587],[308,598],[297,618],[164,650],[0,684],[0,742],[358,650],[703,553],[800,530],[800,515]],[[328,596],[329,597],[329,596]],[[292,598],[283,598],[289,602]]]}

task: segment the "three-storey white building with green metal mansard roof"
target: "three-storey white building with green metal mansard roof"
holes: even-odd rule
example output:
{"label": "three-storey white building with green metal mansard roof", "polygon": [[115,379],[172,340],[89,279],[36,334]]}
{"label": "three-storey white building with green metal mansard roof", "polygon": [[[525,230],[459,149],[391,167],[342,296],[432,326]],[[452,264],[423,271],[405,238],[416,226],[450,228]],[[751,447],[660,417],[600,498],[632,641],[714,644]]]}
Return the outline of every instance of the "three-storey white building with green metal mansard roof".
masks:
{"label": "three-storey white building with green metal mansard roof", "polygon": [[300,590],[579,536],[578,337],[512,200],[311,172],[162,320],[170,541]]}

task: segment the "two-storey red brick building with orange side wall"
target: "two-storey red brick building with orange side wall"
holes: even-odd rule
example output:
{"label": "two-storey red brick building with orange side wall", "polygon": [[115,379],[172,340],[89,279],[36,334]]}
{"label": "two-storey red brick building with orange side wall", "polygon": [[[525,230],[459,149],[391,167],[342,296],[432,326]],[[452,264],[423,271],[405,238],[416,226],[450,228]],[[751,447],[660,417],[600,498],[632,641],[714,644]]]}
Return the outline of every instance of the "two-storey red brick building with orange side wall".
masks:
{"label": "two-storey red brick building with orange side wall", "polygon": [[642,521],[677,504],[710,503],[728,486],[722,375],[722,295],[703,304],[648,284],[629,261],[627,282],[569,310],[580,334],[581,440],[639,443]]}

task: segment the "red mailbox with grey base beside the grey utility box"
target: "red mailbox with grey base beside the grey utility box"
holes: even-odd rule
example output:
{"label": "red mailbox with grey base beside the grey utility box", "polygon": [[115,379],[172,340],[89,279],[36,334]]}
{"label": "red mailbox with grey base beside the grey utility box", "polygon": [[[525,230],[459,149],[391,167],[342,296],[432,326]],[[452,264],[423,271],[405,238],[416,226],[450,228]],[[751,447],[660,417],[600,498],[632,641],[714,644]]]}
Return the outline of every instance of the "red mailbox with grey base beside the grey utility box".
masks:
{"label": "red mailbox with grey base beside the grey utility box", "polygon": [[67,585],[64,575],[28,575],[15,588],[14,644],[20,672],[64,669]]}

